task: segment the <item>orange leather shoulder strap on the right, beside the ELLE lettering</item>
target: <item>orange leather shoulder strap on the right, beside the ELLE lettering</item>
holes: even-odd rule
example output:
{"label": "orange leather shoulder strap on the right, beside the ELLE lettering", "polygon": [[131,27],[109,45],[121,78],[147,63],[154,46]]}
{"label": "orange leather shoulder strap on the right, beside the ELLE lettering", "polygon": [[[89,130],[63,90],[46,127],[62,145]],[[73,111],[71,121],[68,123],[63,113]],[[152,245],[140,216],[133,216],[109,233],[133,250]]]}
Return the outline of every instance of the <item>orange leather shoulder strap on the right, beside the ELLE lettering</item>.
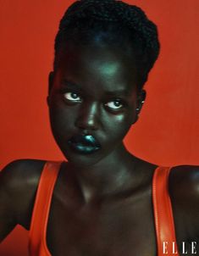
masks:
{"label": "orange leather shoulder strap on the right, beside the ELLE lettering", "polygon": [[158,256],[180,255],[176,243],[174,217],[169,198],[169,172],[170,168],[158,167],[152,180]]}

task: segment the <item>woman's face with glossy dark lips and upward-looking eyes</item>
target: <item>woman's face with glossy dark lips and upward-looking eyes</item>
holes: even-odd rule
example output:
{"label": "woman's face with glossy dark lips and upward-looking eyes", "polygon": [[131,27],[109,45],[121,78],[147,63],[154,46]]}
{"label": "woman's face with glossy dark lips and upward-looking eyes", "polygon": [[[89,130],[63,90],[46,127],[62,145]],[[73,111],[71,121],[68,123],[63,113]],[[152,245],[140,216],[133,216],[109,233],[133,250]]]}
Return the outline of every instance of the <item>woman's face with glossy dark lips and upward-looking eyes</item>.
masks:
{"label": "woman's face with glossy dark lips and upward-looking eyes", "polygon": [[138,97],[132,58],[119,48],[71,43],[51,75],[48,105],[53,136],[73,164],[117,155],[136,120]]}

